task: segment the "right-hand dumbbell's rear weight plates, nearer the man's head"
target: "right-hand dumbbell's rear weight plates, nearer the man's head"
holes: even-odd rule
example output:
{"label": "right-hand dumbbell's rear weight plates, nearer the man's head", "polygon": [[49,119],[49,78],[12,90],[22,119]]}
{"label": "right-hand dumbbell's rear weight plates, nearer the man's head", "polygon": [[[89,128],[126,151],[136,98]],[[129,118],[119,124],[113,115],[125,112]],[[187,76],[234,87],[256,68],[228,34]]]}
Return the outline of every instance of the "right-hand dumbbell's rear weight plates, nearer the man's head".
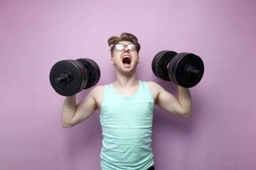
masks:
{"label": "right-hand dumbbell's rear weight plates, nearer the man's head", "polygon": [[168,76],[167,65],[174,58],[177,52],[164,50],[158,52],[152,60],[152,71],[156,77],[164,81],[170,81]]}

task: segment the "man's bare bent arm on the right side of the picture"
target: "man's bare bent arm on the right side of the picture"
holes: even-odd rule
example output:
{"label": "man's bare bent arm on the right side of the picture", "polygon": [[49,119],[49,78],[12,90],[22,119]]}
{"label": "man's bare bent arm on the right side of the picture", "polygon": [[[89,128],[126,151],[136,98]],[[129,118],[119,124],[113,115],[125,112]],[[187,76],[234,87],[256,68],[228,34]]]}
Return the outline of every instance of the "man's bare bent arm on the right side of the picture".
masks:
{"label": "man's bare bent arm on the right side of the picture", "polygon": [[192,101],[189,89],[178,86],[178,97],[175,97],[157,83],[150,82],[150,89],[155,99],[155,103],[167,112],[183,117],[193,115]]}

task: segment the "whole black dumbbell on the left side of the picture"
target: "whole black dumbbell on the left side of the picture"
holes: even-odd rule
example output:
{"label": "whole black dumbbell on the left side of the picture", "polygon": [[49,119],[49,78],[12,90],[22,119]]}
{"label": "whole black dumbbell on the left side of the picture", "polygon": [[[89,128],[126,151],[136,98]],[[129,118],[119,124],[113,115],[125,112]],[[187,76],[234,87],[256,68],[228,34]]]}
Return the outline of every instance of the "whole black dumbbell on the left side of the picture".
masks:
{"label": "whole black dumbbell on the left side of the picture", "polygon": [[61,60],[50,71],[51,86],[63,96],[71,96],[96,85],[100,79],[100,68],[94,60],[79,58]]}

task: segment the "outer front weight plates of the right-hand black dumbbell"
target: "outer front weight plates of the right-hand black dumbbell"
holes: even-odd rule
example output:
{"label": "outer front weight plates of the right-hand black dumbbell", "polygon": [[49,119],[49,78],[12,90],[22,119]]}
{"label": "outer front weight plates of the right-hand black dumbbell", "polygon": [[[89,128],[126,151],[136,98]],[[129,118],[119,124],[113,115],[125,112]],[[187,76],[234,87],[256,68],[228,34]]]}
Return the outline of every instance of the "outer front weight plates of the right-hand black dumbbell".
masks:
{"label": "outer front weight plates of the right-hand black dumbbell", "polygon": [[[186,72],[186,68],[191,65],[199,70],[198,75],[189,76]],[[195,54],[182,52],[177,54],[170,62],[168,75],[170,79],[182,87],[190,88],[203,77],[203,60]]]}

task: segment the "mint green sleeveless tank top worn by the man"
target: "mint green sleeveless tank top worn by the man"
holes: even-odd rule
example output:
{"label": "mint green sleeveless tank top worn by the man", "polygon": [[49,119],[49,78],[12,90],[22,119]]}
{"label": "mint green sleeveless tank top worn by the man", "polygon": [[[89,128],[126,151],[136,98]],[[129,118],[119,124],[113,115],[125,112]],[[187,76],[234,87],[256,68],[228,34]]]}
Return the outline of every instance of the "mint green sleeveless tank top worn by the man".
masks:
{"label": "mint green sleeveless tank top worn by the man", "polygon": [[139,81],[133,95],[120,95],[113,84],[104,86],[102,126],[102,170],[144,170],[154,165],[152,120],[154,99],[148,83]]}

